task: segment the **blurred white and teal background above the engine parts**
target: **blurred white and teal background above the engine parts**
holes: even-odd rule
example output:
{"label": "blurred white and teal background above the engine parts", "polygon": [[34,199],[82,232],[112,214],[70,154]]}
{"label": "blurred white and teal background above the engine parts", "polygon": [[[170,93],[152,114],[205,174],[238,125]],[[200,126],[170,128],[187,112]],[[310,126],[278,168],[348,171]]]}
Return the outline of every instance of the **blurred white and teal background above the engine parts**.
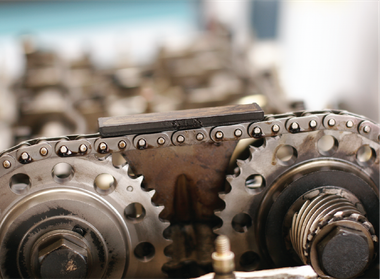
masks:
{"label": "blurred white and teal background above the engine parts", "polygon": [[148,63],[218,19],[237,48],[252,48],[252,63],[277,67],[289,98],[379,122],[379,18],[379,1],[0,1],[0,149],[15,114],[9,85],[24,66],[21,34],[67,59],[90,52],[107,68],[120,57]]}

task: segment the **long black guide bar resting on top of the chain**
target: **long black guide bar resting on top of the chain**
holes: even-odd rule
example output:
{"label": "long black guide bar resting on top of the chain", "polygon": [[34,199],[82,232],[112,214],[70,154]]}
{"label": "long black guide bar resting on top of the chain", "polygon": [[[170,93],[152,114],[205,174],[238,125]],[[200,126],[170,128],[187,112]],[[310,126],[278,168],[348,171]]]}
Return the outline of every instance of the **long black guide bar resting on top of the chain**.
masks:
{"label": "long black guide bar resting on top of the chain", "polygon": [[99,118],[103,137],[198,129],[209,126],[257,122],[264,118],[255,103],[214,108],[191,109],[165,113]]}

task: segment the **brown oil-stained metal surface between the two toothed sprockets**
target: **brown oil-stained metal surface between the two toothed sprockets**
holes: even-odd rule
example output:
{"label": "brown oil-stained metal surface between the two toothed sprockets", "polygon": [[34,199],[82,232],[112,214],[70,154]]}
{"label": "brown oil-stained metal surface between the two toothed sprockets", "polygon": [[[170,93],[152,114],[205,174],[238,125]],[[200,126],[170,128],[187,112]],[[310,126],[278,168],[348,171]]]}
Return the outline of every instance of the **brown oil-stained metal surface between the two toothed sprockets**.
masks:
{"label": "brown oil-stained metal surface between the two toothed sprockets", "polygon": [[214,210],[223,207],[218,192],[224,189],[235,146],[203,143],[125,153],[132,171],[144,173],[144,187],[156,190],[152,201],[165,206],[160,217],[171,222],[166,231],[173,241],[166,250],[172,257],[166,265],[169,273],[186,261],[211,264],[212,228],[218,222]]}

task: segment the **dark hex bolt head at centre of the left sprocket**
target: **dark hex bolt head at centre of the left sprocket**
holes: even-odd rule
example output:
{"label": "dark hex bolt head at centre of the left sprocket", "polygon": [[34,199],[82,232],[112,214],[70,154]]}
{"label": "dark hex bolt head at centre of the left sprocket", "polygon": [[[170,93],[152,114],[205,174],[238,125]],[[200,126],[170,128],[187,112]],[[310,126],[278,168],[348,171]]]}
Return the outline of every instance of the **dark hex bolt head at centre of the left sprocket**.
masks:
{"label": "dark hex bolt head at centre of the left sprocket", "polygon": [[87,276],[88,252],[67,239],[59,239],[38,253],[42,279],[84,279]]}

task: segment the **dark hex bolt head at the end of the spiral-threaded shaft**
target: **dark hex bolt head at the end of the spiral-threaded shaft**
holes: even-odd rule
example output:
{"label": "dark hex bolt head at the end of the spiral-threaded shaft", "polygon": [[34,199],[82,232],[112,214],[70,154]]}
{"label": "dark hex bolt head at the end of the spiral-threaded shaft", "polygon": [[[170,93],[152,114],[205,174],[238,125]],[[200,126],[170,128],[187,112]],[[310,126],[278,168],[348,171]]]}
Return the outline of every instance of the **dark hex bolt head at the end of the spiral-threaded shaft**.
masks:
{"label": "dark hex bolt head at the end of the spiral-threaded shaft", "polygon": [[365,234],[340,226],[317,244],[317,251],[320,267],[334,278],[356,277],[371,261]]}

